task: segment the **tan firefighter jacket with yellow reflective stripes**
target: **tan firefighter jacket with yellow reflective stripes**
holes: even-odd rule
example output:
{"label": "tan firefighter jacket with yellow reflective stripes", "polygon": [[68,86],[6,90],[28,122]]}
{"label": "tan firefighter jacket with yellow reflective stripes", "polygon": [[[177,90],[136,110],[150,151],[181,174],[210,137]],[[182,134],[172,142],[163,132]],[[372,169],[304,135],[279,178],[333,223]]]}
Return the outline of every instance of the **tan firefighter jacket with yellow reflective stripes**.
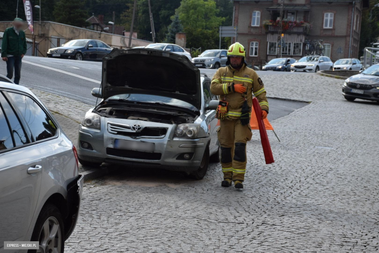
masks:
{"label": "tan firefighter jacket with yellow reflective stripes", "polygon": [[[242,84],[246,88],[244,94],[233,91],[234,84]],[[269,105],[266,98],[266,90],[257,72],[246,67],[243,64],[242,68],[238,71],[231,66],[223,67],[217,70],[213,76],[210,85],[210,91],[214,95],[220,97],[220,101],[228,102],[227,118],[238,119],[241,117],[241,108],[245,98],[249,106],[249,114],[251,115],[251,107],[253,106],[254,94],[258,101],[260,108],[268,112]]]}

